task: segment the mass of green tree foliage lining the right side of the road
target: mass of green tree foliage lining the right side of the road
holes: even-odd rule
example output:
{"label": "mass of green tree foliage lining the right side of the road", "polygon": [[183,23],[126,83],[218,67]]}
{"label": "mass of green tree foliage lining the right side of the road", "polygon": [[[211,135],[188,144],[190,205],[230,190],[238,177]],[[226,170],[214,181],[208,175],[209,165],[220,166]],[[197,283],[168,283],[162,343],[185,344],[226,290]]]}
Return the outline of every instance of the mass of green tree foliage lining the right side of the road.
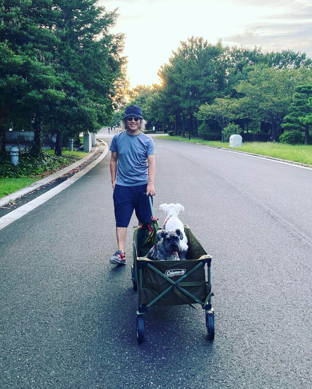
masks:
{"label": "mass of green tree foliage lining the right side of the road", "polygon": [[234,120],[242,127],[265,121],[274,140],[294,88],[312,79],[311,64],[305,53],[263,53],[260,47],[229,48],[221,41],[208,44],[191,37],[161,66],[161,85],[134,88],[131,104],[142,108],[151,126],[169,131],[174,127],[179,134],[191,126],[193,134],[208,136],[199,121],[212,129],[223,129]]}

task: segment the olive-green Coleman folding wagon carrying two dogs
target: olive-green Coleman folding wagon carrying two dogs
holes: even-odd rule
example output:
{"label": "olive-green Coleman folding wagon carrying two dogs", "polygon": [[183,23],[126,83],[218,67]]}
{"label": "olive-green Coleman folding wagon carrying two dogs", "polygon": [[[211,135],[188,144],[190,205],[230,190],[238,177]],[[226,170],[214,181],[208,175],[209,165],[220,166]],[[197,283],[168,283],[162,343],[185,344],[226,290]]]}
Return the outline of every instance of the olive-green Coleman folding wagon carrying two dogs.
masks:
{"label": "olive-green Coleman folding wagon carrying two dogs", "polygon": [[[138,343],[142,343],[144,339],[145,313],[152,305],[188,304],[193,307],[194,303],[200,304],[205,310],[208,338],[209,340],[214,339],[214,309],[211,305],[211,297],[214,294],[211,291],[210,279],[212,256],[203,249],[189,226],[184,226],[184,230],[189,246],[186,260],[152,261],[144,256],[138,256],[140,229],[138,227],[132,229],[133,266],[131,266],[131,278],[133,289],[138,290]],[[154,243],[155,241],[152,244]],[[140,252],[140,255],[142,254]]]}

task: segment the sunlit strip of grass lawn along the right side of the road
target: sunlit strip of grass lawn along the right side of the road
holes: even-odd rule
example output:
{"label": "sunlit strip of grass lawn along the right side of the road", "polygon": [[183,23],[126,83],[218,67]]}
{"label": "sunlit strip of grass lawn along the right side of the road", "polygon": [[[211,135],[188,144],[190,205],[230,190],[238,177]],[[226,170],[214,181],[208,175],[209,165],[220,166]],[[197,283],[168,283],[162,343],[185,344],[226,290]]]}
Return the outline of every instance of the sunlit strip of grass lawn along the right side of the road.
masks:
{"label": "sunlit strip of grass lawn along the right side of the road", "polygon": [[[158,138],[181,140],[182,142],[196,143],[207,146],[223,147],[232,149],[229,142],[217,142],[212,140],[202,140],[201,138],[191,137],[191,140],[183,137],[162,137]],[[286,159],[287,161],[300,162],[305,165],[312,165],[312,145],[287,145],[275,142],[243,142],[242,147],[235,147],[235,150],[252,152],[254,154],[264,155],[268,157]]]}

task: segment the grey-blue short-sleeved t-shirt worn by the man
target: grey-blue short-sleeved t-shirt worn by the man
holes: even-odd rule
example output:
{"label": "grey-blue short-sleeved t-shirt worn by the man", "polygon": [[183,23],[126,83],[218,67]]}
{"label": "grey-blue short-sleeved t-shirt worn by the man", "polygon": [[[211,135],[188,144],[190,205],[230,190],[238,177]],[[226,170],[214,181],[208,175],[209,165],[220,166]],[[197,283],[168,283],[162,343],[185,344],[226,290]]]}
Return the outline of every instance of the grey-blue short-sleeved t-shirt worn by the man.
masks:
{"label": "grey-blue short-sleeved t-shirt worn by the man", "polygon": [[155,154],[152,138],[140,131],[137,135],[129,135],[127,131],[114,135],[110,151],[117,152],[116,184],[137,186],[147,184],[147,156]]}

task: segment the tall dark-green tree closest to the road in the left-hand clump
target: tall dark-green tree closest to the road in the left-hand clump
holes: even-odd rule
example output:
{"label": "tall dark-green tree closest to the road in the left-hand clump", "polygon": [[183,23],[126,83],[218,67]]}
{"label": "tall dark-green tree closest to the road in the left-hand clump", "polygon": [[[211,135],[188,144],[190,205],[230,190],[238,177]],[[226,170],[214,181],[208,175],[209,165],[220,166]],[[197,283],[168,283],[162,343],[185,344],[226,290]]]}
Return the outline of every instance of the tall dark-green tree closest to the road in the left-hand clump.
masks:
{"label": "tall dark-green tree closest to the road in the left-hand clump", "polygon": [[[74,128],[76,132],[79,129],[85,133],[97,132],[109,121],[113,108],[121,105],[125,63],[120,57],[123,35],[108,33],[117,14],[98,7],[96,0],[73,0],[70,3],[57,0],[53,10],[54,31],[61,40],[54,56],[60,69],[76,86],[69,83],[67,108],[60,107],[60,114],[65,114],[69,120],[63,118],[56,133],[62,138]],[[84,120],[79,127],[77,112]],[[57,140],[57,144],[61,141]],[[60,155],[61,148],[56,147],[55,153]]]}

